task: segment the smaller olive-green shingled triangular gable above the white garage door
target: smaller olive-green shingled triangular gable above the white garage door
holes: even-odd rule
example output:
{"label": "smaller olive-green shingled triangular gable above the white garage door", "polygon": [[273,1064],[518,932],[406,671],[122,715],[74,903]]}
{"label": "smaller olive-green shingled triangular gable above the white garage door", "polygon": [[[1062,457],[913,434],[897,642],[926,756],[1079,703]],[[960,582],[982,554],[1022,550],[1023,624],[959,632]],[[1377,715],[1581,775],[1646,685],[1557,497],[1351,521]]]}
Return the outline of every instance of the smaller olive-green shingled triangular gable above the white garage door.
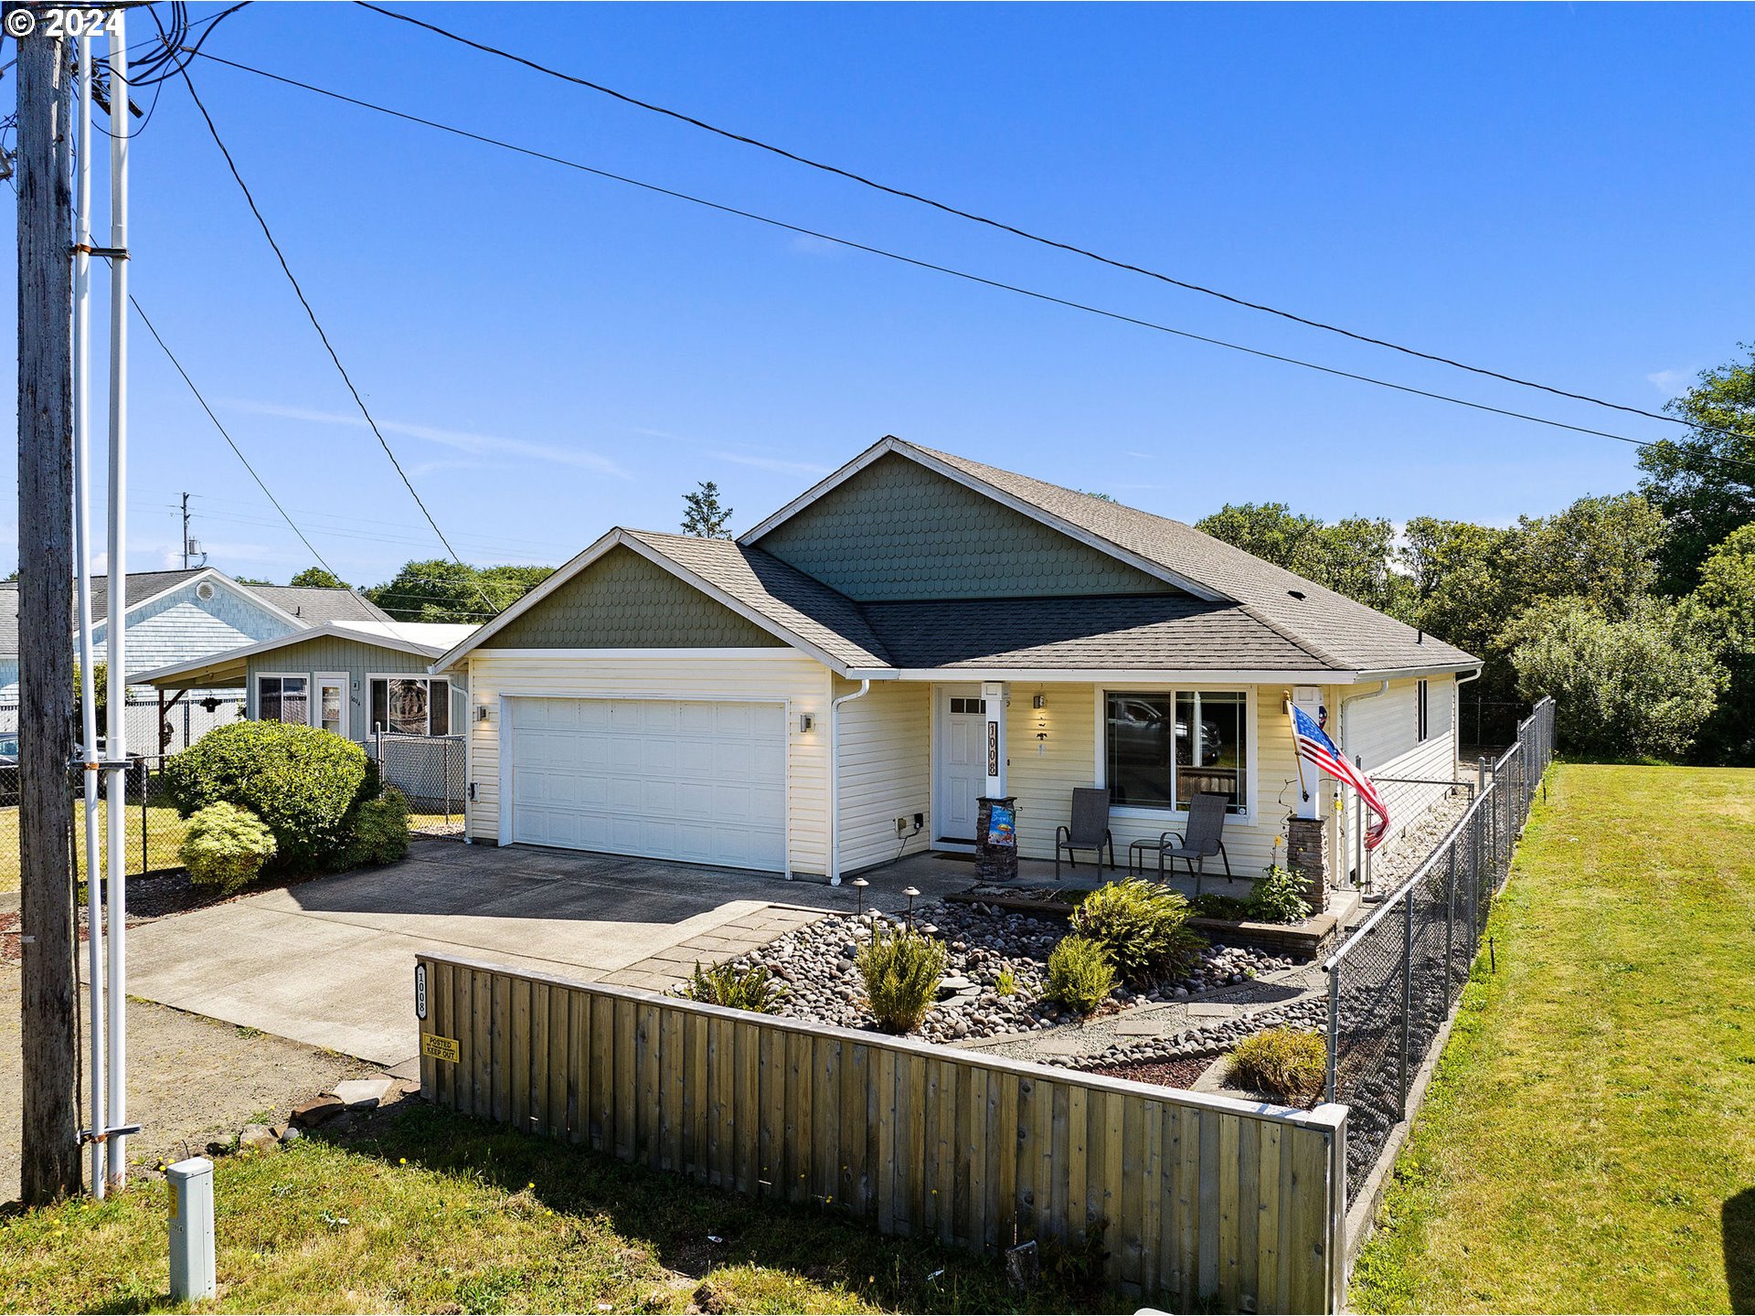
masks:
{"label": "smaller olive-green shingled triangular gable above the white garage door", "polygon": [[749,649],[783,644],[634,549],[612,547],[483,647]]}

